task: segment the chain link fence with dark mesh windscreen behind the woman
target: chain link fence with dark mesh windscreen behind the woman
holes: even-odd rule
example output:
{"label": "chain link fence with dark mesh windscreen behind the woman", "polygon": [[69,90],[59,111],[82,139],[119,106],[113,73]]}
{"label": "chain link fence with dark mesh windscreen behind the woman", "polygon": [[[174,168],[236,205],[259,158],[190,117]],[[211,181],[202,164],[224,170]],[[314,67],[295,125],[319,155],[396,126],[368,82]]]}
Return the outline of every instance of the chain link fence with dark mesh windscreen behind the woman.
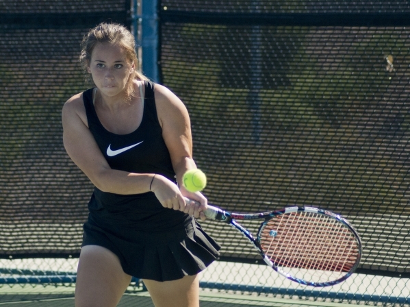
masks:
{"label": "chain link fence with dark mesh windscreen behind the woman", "polygon": [[[0,1],[3,287],[73,286],[92,186],[62,146],[61,108],[88,87],[82,36],[101,21],[129,24],[129,1],[34,2]],[[209,202],[327,208],[353,222],[364,247],[352,278],[309,288],[266,271],[246,239],[205,221],[223,248],[201,286],[409,306],[407,1],[163,0],[158,16],[161,83],[190,112]]]}

